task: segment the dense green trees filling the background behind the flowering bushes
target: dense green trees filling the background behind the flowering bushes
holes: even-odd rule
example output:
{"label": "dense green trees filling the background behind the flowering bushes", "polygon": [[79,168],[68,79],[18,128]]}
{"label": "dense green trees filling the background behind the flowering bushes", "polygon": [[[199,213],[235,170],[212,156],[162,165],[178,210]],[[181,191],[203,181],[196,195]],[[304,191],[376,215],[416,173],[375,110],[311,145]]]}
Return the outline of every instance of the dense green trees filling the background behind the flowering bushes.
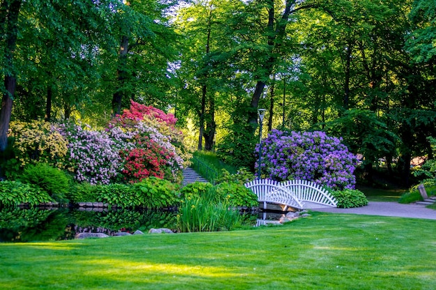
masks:
{"label": "dense green trees filling the background behind the flowering bushes", "polygon": [[426,0],[2,0],[0,150],[10,119],[99,125],[132,99],[252,167],[263,107],[269,130],[325,130],[366,178],[385,158],[407,183],[436,136],[435,15]]}

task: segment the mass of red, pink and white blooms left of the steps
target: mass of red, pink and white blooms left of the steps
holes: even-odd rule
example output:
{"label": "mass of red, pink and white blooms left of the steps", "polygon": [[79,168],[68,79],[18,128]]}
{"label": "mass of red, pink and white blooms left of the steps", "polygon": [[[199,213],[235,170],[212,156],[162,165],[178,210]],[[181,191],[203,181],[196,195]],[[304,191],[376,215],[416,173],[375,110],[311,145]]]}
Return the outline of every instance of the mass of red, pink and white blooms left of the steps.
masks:
{"label": "mass of red, pink and white blooms left of the steps", "polygon": [[131,101],[130,109],[109,123],[107,131],[123,151],[122,172],[127,180],[180,178],[190,155],[182,144],[182,133],[174,127],[176,121],[172,114]]}

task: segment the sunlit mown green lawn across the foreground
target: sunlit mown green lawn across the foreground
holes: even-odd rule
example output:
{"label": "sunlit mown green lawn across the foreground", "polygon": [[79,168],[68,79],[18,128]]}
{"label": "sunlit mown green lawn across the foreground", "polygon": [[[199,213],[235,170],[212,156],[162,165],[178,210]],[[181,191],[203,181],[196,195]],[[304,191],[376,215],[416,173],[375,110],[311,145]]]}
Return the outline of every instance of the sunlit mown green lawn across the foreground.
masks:
{"label": "sunlit mown green lawn across the foreground", "polygon": [[0,244],[0,285],[434,289],[434,229],[433,220],[313,213],[281,227]]}

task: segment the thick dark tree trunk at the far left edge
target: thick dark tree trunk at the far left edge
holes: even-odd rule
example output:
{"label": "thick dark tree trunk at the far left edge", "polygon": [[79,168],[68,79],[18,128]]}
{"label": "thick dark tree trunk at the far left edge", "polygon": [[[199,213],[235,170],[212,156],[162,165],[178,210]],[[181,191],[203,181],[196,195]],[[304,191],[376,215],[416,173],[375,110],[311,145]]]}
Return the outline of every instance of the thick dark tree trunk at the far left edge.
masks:
{"label": "thick dark tree trunk at the far left edge", "polygon": [[6,49],[4,64],[6,68],[4,86],[6,91],[1,99],[0,109],[0,151],[8,146],[8,130],[10,114],[12,113],[13,98],[17,86],[17,78],[13,68],[13,54],[17,44],[18,15],[20,14],[21,0],[3,1],[1,3],[0,23],[1,29],[6,33]]}

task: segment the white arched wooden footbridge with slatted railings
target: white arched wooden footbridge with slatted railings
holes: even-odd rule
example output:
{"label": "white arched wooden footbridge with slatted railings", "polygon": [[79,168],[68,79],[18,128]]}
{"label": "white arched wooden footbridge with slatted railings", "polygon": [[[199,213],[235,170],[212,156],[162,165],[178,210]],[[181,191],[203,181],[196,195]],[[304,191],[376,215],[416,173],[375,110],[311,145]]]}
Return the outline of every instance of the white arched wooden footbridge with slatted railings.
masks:
{"label": "white arched wooden footbridge with slatted railings", "polygon": [[285,206],[284,211],[290,206],[297,209],[337,207],[337,201],[332,194],[320,185],[311,181],[284,181],[278,182],[271,179],[255,179],[245,183],[258,196],[258,201]]}

